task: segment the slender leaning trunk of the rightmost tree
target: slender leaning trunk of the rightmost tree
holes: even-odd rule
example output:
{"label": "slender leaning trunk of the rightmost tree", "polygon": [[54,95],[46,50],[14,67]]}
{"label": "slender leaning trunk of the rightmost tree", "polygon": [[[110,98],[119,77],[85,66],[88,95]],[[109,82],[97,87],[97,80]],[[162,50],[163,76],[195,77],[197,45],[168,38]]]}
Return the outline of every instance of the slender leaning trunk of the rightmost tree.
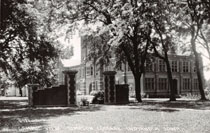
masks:
{"label": "slender leaning trunk of the rightmost tree", "polygon": [[193,38],[191,39],[191,45],[192,45],[193,53],[195,55],[195,66],[196,66],[196,71],[197,71],[198,86],[199,86],[199,91],[201,94],[201,100],[207,100],[204,93],[204,89],[203,89],[203,80],[202,80],[201,71],[200,71],[199,56],[198,56],[195,41]]}

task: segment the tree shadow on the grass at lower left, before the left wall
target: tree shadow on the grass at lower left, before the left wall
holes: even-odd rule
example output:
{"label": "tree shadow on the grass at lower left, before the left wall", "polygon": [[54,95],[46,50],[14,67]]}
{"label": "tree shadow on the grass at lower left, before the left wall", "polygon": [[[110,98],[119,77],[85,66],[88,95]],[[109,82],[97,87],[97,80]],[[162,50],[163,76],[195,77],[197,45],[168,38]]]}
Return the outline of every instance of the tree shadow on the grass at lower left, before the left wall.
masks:
{"label": "tree shadow on the grass at lower left, before the left wall", "polygon": [[29,108],[27,100],[0,100],[0,132],[43,132],[48,130],[50,118],[97,110],[101,106]]}

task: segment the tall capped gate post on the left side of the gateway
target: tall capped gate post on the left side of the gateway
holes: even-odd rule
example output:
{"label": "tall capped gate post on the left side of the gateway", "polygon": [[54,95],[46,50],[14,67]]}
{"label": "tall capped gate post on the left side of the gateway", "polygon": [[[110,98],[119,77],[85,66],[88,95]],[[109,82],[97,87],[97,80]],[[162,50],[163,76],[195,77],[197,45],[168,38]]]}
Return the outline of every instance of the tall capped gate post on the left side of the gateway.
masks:
{"label": "tall capped gate post on the left side of the gateway", "polygon": [[67,87],[67,106],[76,106],[76,70],[63,71]]}

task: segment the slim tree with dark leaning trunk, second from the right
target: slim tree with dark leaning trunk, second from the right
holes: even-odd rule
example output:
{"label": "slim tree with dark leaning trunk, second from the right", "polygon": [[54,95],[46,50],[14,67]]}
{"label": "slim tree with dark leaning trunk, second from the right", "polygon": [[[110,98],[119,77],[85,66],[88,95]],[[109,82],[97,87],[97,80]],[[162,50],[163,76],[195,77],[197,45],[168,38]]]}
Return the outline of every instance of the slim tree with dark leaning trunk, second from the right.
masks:
{"label": "slim tree with dark leaning trunk, second from the right", "polygon": [[174,14],[177,11],[174,3],[156,1],[151,4],[148,21],[153,29],[152,35],[145,35],[152,44],[154,54],[165,62],[170,91],[170,101],[176,100],[176,91],[173,85],[172,71],[169,61],[169,52],[175,51],[176,32],[174,30]]}

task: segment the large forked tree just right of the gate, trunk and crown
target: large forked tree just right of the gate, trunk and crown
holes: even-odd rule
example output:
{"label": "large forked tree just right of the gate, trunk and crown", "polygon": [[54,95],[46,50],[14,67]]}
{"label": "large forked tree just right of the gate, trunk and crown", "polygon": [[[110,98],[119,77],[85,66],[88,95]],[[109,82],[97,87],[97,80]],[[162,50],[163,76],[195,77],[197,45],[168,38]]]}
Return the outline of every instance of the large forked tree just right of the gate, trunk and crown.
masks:
{"label": "large forked tree just right of the gate, trunk and crown", "polygon": [[53,10],[57,10],[56,16],[64,18],[62,24],[84,20],[86,24],[101,25],[101,34],[110,33],[108,50],[112,47],[122,49],[134,75],[136,99],[141,102],[140,78],[149,49],[149,43],[142,32],[151,33],[151,28],[144,21],[149,4],[137,0],[58,0],[53,1],[52,5]]}

